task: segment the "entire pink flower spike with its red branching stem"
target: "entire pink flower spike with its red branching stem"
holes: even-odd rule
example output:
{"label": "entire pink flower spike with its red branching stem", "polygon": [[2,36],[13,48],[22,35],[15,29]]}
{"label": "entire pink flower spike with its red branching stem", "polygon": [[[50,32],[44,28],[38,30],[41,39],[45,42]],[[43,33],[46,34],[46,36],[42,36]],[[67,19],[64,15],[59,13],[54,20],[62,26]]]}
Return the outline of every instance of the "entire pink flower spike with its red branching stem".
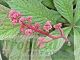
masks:
{"label": "entire pink flower spike with its red branching stem", "polygon": [[[62,27],[61,23],[58,23],[58,24],[52,26],[51,21],[47,21],[44,24],[43,29],[41,29],[40,24],[38,22],[36,22],[34,25],[32,24],[32,16],[23,17],[22,14],[20,12],[17,12],[16,10],[10,10],[9,18],[14,25],[16,25],[16,23],[19,23],[20,31],[27,36],[32,35],[33,32],[38,32],[38,33],[48,36],[52,39],[64,38],[65,41],[68,41],[64,35],[63,30],[61,29],[61,27]],[[26,21],[27,21],[27,23],[26,23]],[[60,32],[59,36],[54,36],[54,35],[49,34],[49,31],[53,27]],[[37,45],[40,48],[43,48],[44,43],[47,43],[50,41],[51,40],[46,40],[45,37],[39,37],[38,41],[37,41]]]}

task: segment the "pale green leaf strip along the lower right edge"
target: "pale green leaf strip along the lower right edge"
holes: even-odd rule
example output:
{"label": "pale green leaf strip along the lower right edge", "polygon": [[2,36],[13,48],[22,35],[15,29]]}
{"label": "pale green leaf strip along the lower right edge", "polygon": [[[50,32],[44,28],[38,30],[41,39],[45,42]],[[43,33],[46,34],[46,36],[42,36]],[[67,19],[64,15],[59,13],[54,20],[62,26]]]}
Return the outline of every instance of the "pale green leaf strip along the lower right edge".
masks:
{"label": "pale green leaf strip along the lower right edge", "polygon": [[74,55],[75,60],[80,60],[80,28],[74,29]]}

